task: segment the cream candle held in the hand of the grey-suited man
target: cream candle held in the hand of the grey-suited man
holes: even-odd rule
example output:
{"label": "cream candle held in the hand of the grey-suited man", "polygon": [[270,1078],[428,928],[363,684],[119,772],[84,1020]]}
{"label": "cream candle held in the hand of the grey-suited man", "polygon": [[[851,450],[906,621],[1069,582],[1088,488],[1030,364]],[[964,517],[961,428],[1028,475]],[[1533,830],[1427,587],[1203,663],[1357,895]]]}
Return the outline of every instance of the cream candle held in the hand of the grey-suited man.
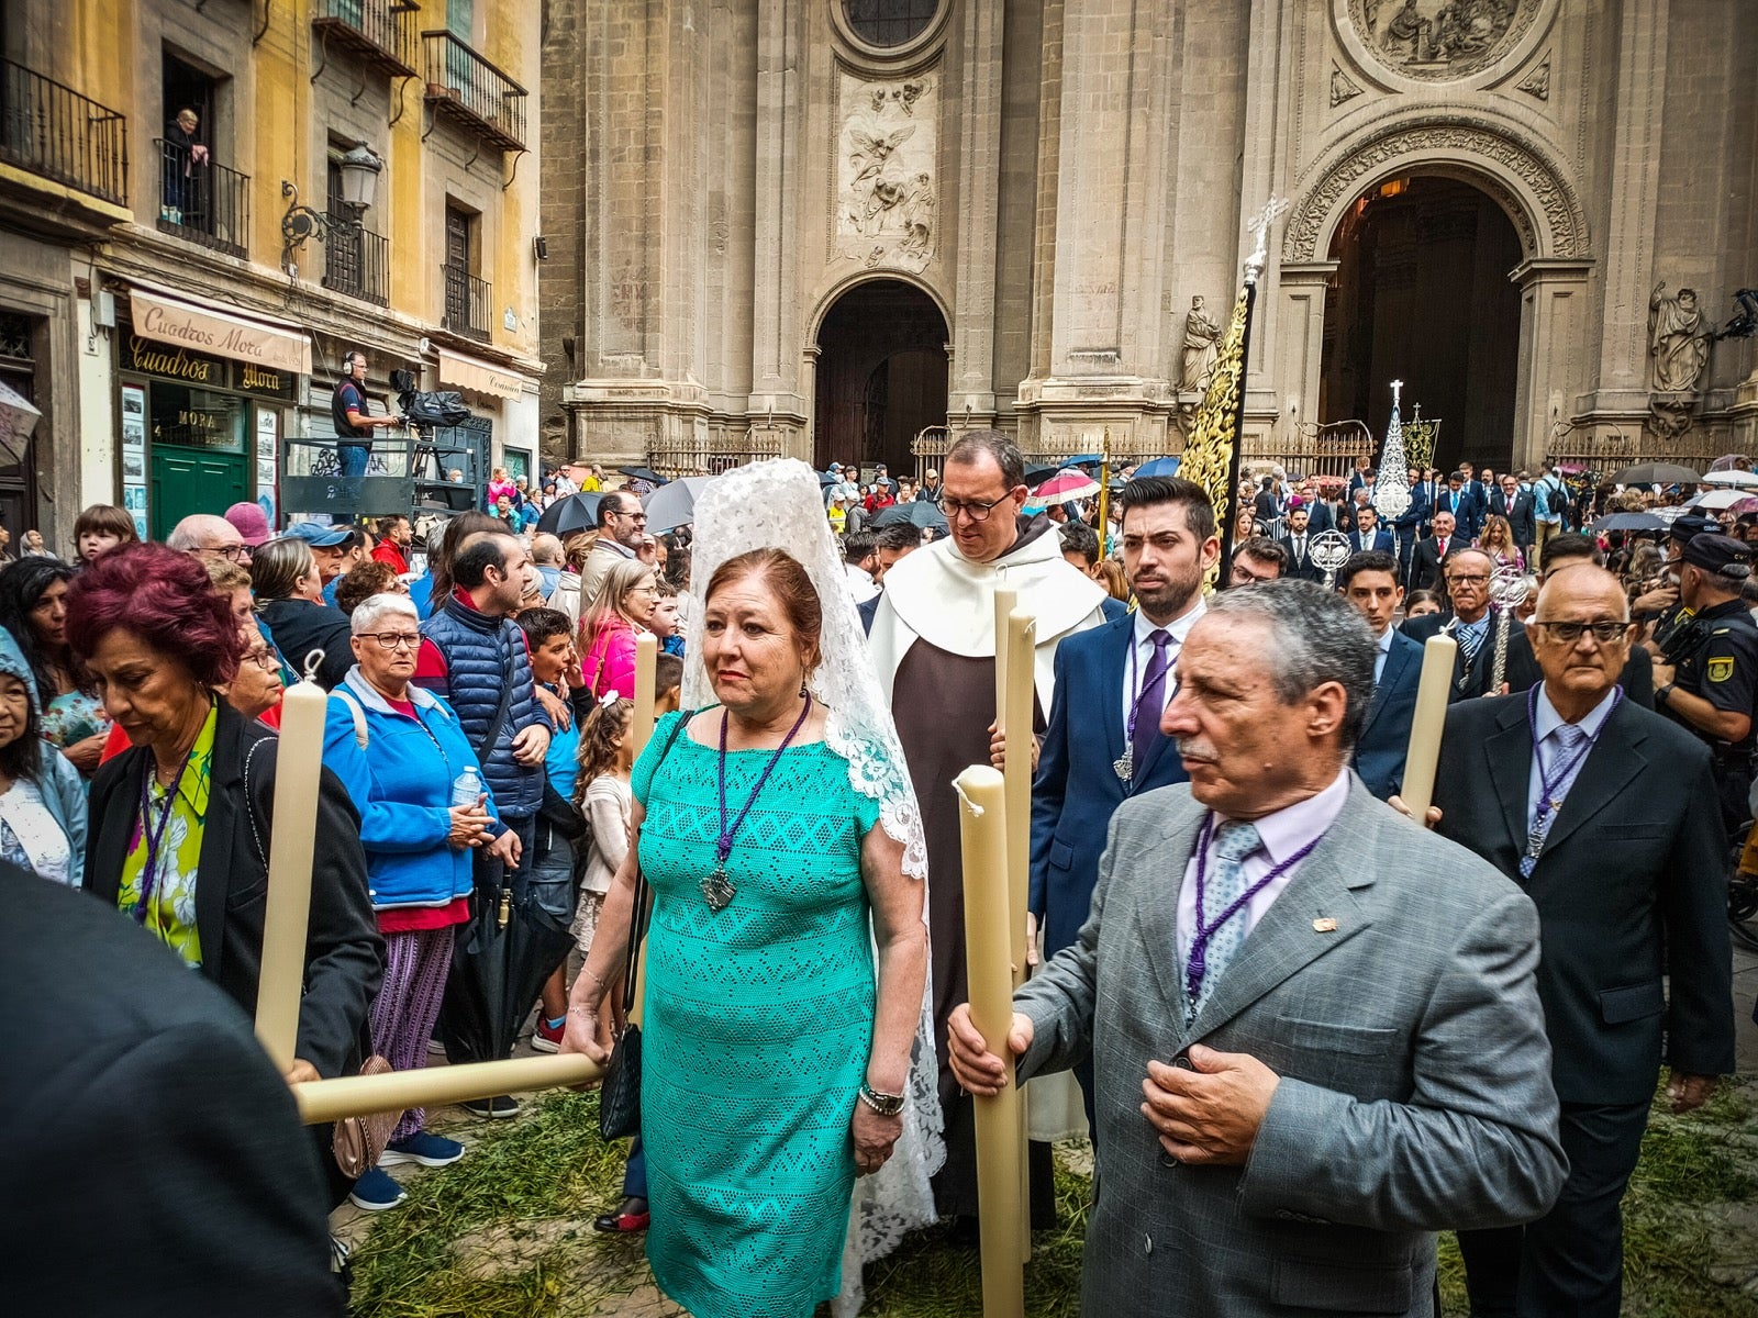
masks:
{"label": "cream candle held in the hand of the grey-suited man", "polygon": [[990,1047],[1009,1058],[1002,1091],[976,1102],[977,1232],[983,1244],[984,1318],[1025,1313],[1025,1258],[1020,1249],[1025,1211],[1023,1118],[1011,1074],[1007,1028],[1013,1025],[1013,938],[1007,919],[1006,780],[988,764],[972,764],[955,780],[965,870],[965,961],[970,1019]]}

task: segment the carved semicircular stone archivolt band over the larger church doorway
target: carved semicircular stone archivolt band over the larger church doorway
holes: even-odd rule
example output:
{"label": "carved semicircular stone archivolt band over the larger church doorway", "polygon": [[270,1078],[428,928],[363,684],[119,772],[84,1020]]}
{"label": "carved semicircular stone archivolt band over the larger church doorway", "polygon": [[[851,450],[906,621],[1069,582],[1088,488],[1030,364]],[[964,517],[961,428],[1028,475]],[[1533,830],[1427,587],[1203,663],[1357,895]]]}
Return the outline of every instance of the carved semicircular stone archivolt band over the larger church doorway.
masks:
{"label": "carved semicircular stone archivolt band over the larger church doorway", "polygon": [[[1310,174],[1299,185],[1301,200],[1289,214],[1289,227],[1282,235],[1282,260],[1313,260],[1320,228],[1345,193],[1355,195],[1375,177],[1396,169],[1406,156],[1417,155],[1450,158],[1466,167],[1478,165],[1482,176],[1475,177],[1473,183],[1503,202],[1503,209],[1508,211],[1515,230],[1519,230],[1521,244],[1529,255],[1589,255],[1587,216],[1580,207],[1580,199],[1568,181],[1538,155],[1536,148],[1517,142],[1500,128],[1457,118],[1387,128],[1366,142],[1352,144],[1347,153],[1320,162],[1313,169],[1317,179]],[[1528,204],[1515,200],[1507,188],[1498,186],[1496,174],[1512,174],[1529,190],[1538,206],[1536,218],[1547,230],[1544,239],[1533,232]]]}

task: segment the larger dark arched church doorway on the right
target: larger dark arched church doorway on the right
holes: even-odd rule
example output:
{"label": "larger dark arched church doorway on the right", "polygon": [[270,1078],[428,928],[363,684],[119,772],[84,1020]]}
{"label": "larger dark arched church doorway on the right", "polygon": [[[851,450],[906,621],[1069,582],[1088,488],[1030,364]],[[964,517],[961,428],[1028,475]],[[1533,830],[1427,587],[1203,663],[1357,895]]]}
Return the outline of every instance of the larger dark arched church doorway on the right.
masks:
{"label": "larger dark arched church doorway on the right", "polygon": [[1524,251],[1486,192],[1454,177],[1396,177],[1357,199],[1331,239],[1318,408],[1385,434],[1389,383],[1442,418],[1435,460],[1512,466]]}

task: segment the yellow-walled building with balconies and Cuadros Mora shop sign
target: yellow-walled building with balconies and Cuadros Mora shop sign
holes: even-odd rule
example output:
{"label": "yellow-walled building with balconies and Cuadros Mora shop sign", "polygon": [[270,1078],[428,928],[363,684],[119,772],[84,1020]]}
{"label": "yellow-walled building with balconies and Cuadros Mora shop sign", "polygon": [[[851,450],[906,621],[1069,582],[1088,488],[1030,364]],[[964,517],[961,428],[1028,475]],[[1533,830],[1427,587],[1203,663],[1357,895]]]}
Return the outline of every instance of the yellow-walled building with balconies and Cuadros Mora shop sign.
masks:
{"label": "yellow-walled building with balconies and Cuadros Mora shop sign", "polygon": [[371,411],[401,369],[473,413],[413,469],[380,443],[371,476],[457,511],[450,473],[534,467],[536,23],[517,0],[9,0],[0,381],[42,411],[0,453],[14,536],[67,552],[91,503],[155,538],[250,499],[406,511],[336,483],[353,348]]}

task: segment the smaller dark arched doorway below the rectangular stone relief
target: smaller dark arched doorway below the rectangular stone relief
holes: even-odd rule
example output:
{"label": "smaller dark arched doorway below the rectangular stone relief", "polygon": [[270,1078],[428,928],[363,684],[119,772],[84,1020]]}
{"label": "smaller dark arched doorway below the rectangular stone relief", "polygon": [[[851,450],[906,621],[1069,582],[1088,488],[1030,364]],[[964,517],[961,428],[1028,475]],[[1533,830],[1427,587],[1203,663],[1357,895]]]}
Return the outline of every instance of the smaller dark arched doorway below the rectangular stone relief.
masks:
{"label": "smaller dark arched doorway below the rectangular stone relief", "polygon": [[872,279],[839,297],[817,327],[812,455],[914,471],[909,441],[946,425],[946,316],[902,279]]}

